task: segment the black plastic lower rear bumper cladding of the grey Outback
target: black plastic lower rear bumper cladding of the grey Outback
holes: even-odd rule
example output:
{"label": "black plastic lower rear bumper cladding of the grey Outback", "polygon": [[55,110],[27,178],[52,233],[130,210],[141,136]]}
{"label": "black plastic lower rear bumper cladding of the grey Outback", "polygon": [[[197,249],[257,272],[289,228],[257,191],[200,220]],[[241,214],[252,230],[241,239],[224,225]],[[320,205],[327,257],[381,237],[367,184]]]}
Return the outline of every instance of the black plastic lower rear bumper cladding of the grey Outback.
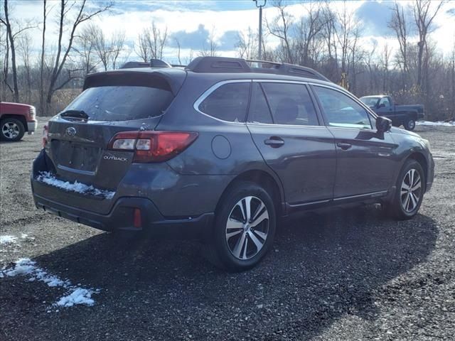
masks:
{"label": "black plastic lower rear bumper cladding of the grey Outback", "polygon": [[[198,237],[208,231],[213,222],[213,213],[181,219],[165,218],[154,203],[144,197],[121,197],[107,215],[69,207],[35,193],[33,193],[33,200],[39,209],[104,231],[129,230],[150,234],[170,234],[176,237]],[[134,210],[140,212],[140,226],[134,226]]]}

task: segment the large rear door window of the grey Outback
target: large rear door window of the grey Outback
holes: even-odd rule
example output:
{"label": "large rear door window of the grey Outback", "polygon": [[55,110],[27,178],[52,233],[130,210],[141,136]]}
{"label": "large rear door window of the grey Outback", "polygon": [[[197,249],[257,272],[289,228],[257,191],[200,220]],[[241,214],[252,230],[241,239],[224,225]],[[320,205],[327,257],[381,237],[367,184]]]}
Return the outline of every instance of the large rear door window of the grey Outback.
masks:
{"label": "large rear door window of the grey Outback", "polygon": [[275,124],[317,126],[313,102],[305,85],[262,83]]}

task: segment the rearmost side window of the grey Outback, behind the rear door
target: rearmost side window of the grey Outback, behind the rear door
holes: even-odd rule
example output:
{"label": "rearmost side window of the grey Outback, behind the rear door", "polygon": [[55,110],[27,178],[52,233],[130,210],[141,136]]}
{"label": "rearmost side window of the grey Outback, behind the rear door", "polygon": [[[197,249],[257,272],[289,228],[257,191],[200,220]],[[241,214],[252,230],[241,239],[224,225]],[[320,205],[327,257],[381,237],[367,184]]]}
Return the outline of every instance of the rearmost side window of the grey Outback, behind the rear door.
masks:
{"label": "rearmost side window of the grey Outback, behind the rear door", "polygon": [[199,110],[223,121],[245,121],[250,84],[247,82],[221,85],[199,104]]}

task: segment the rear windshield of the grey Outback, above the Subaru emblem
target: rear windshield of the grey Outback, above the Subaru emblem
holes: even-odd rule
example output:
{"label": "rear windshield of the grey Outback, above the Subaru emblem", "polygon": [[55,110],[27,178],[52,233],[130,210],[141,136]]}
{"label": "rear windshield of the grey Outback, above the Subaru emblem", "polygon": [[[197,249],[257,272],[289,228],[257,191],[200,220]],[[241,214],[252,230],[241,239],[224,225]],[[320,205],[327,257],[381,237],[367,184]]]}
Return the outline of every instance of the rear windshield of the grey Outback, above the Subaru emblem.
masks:
{"label": "rear windshield of the grey Outback, above the Subaru emblem", "polygon": [[90,121],[127,121],[156,117],[168,108],[173,94],[156,87],[112,85],[90,87],[65,108],[84,111]]}

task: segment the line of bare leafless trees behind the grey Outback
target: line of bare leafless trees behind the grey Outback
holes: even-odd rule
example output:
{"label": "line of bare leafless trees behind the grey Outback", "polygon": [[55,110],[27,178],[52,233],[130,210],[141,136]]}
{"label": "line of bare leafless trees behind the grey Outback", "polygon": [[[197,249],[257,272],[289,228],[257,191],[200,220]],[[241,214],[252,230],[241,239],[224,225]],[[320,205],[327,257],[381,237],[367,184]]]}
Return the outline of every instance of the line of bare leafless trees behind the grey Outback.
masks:
{"label": "line of bare leafless trees behind the grey Outback", "polygon": [[[178,37],[153,22],[134,43],[127,41],[121,28],[107,35],[92,19],[108,15],[112,1],[42,0],[42,13],[34,21],[21,20],[10,2],[3,0],[0,11],[0,97],[33,104],[39,114],[63,109],[90,72],[116,69],[127,60],[163,59],[166,49],[181,65],[193,55],[222,54],[215,28],[200,50],[185,57]],[[429,119],[453,118],[455,45],[443,55],[432,40],[443,4],[430,0],[391,4],[387,26],[394,36],[379,48],[377,42],[363,43],[365,28],[346,3],[336,10],[328,1],[316,1],[304,6],[303,16],[294,16],[286,1],[272,1],[277,15],[264,22],[262,59],[313,67],[359,97],[384,93],[402,104],[424,104]],[[55,32],[48,31],[50,20],[58,23],[52,26]],[[33,30],[41,33],[39,47],[31,38]],[[49,34],[57,41],[46,40]],[[392,40],[398,43],[396,50],[391,48]],[[257,31],[240,32],[237,55],[257,59],[258,44]]]}

